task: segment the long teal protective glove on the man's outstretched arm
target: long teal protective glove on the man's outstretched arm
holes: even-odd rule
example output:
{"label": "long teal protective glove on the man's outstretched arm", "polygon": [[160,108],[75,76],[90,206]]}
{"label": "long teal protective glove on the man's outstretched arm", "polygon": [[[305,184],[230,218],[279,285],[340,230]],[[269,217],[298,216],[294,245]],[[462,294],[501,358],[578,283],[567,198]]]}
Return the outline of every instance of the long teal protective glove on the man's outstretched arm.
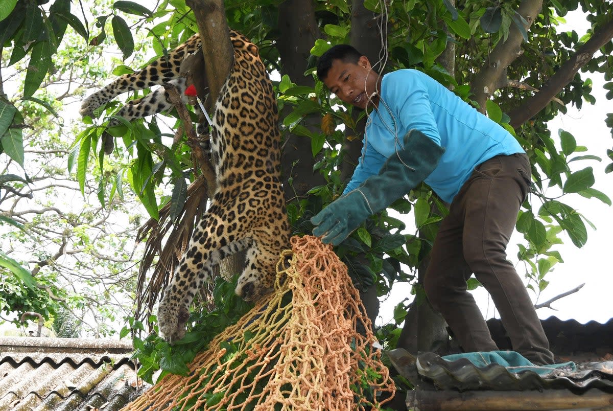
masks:
{"label": "long teal protective glove on the man's outstretched arm", "polygon": [[387,159],[379,174],[368,177],[311,218],[316,226],[314,236],[324,243],[341,244],[368,216],[386,209],[428,177],[445,152],[416,129],[406,133],[403,140],[404,147]]}

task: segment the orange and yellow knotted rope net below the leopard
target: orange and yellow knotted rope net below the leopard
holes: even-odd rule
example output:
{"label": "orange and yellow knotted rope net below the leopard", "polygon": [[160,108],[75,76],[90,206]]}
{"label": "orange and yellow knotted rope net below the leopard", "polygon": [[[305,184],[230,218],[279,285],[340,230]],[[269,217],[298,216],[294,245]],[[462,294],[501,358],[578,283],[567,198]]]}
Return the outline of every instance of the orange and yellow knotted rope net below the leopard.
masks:
{"label": "orange and yellow knotted rope net below the leopard", "polygon": [[213,339],[189,377],[167,375],[124,410],[365,410],[391,399],[347,267],[316,237],[291,244],[274,293]]}

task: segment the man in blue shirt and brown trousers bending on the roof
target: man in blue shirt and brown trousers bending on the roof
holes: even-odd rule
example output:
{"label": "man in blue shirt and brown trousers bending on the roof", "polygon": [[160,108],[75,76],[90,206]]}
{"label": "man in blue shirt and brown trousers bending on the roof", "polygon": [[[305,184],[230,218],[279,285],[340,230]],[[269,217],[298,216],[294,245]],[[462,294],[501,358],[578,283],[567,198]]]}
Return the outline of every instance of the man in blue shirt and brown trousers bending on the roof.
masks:
{"label": "man in blue shirt and brown trousers bending on the roof", "polygon": [[343,196],[311,221],[338,245],[369,215],[425,181],[444,201],[424,277],[429,301],[466,352],[498,347],[466,280],[474,273],[492,296],[514,350],[535,364],[554,357],[506,245],[530,190],[530,163],[504,128],[422,72],[379,75],[349,45],[318,62],[317,75],[343,102],[369,110],[364,148]]}

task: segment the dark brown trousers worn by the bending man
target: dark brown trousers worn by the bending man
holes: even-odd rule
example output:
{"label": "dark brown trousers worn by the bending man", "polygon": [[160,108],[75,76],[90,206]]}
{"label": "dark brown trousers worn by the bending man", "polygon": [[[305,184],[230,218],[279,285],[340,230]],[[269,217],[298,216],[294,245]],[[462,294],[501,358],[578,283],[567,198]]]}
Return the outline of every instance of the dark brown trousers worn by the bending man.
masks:
{"label": "dark brown trousers worn by the bending man", "polygon": [[517,212],[529,191],[529,175],[523,153],[495,156],[474,169],[441,222],[424,286],[463,350],[498,350],[466,289],[474,273],[492,296],[513,349],[533,363],[553,364],[530,296],[506,259]]}

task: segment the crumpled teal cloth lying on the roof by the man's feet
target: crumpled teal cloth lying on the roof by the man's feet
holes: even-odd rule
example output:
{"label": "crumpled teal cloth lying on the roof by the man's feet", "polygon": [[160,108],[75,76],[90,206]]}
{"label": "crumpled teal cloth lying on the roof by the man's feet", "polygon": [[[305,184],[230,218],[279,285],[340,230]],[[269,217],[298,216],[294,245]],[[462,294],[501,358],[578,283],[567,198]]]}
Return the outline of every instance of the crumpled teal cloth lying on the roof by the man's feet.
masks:
{"label": "crumpled teal cloth lying on the roof by the man's feet", "polygon": [[503,366],[509,372],[522,372],[532,371],[541,376],[550,374],[557,369],[564,369],[565,371],[577,371],[577,365],[572,361],[568,363],[549,364],[544,366],[538,366],[533,364],[516,351],[479,351],[474,353],[460,353],[452,354],[441,357],[446,361],[457,361],[459,359],[468,359],[475,367],[485,367],[490,364],[498,364]]}

